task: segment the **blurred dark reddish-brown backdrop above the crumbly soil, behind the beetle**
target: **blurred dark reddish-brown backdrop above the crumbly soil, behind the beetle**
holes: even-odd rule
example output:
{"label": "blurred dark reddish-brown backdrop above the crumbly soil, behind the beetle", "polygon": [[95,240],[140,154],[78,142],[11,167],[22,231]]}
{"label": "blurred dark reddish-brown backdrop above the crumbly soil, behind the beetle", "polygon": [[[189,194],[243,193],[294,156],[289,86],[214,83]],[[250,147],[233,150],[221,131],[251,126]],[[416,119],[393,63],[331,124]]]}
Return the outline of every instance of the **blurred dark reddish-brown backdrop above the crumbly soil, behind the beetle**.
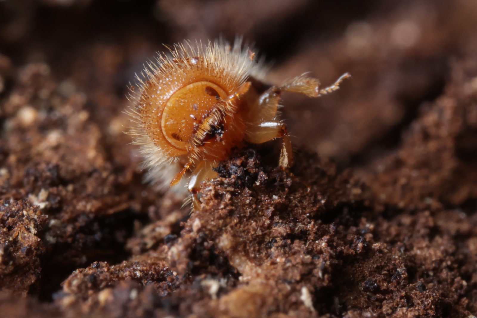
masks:
{"label": "blurred dark reddish-brown backdrop above the crumbly soil, behind the beetle", "polygon": [[[295,143],[342,166],[400,143],[419,106],[443,89],[453,56],[477,51],[472,0],[0,1],[0,51],[13,64],[46,62],[91,97],[98,120],[126,104],[128,82],[162,43],[242,35],[270,62],[270,81],[311,72],[342,90],[287,95]],[[8,82],[6,83],[8,85]]]}

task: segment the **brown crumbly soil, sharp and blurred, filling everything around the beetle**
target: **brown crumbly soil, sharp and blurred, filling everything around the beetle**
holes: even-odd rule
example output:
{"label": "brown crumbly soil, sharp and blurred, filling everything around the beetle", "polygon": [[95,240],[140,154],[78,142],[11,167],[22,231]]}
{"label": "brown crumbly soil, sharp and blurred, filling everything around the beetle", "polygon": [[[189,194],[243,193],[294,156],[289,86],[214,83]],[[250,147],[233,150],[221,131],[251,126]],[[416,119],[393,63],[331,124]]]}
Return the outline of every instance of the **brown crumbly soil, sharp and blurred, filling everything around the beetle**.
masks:
{"label": "brown crumbly soil, sharp and blurred, filling everything around the beetle", "polygon": [[[0,1],[0,317],[474,317],[477,4]],[[142,63],[236,34],[330,96],[284,96],[200,211],[145,185]]]}

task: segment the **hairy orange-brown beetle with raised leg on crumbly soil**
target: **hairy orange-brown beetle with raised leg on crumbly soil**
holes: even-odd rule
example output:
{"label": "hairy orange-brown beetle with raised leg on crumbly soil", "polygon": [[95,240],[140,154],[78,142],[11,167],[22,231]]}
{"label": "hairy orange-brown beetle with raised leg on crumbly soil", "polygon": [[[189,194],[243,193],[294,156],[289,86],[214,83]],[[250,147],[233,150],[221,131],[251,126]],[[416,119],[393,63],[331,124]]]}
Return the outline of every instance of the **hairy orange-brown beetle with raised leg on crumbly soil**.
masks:
{"label": "hairy orange-brown beetle with raised leg on crumbly soil", "polygon": [[[187,189],[195,209],[200,182],[217,176],[213,168],[233,148],[281,138],[280,167],[292,164],[290,135],[278,113],[282,92],[318,97],[350,77],[345,73],[324,89],[306,74],[272,86],[264,80],[263,63],[249,48],[242,49],[241,41],[233,47],[185,42],[169,50],[170,55],[159,54],[148,63],[144,80],[138,77],[130,133],[142,147],[150,180],[166,185],[172,179],[173,186],[191,171]],[[175,162],[182,169],[171,175]]]}

